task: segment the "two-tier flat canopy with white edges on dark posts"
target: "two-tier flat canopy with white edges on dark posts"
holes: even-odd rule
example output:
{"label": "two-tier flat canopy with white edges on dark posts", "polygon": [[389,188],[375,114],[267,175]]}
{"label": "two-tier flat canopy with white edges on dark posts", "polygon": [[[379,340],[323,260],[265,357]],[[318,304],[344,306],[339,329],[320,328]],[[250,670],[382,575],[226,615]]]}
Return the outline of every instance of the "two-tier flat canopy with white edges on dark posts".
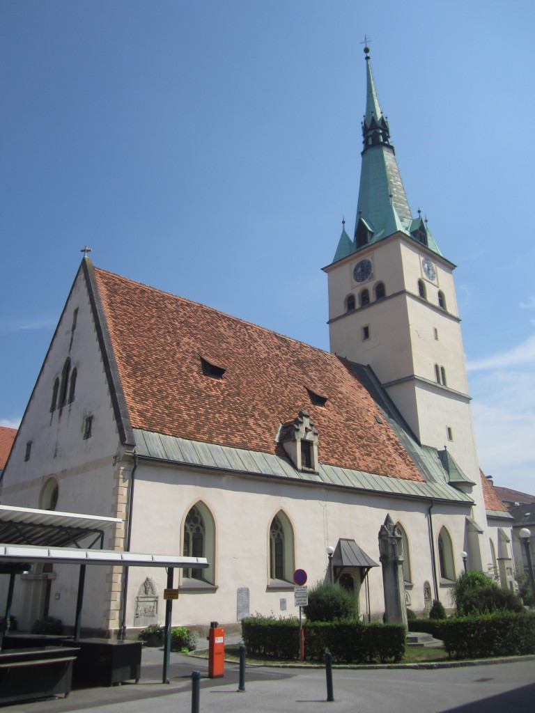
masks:
{"label": "two-tier flat canopy with white edges on dark posts", "polygon": [[[173,588],[175,568],[208,568],[208,560],[203,557],[178,557],[177,555],[103,550],[104,530],[118,523],[122,523],[120,518],[101,518],[96,515],[80,513],[56,513],[34,508],[0,506],[0,573],[11,575],[6,602],[6,632],[9,632],[15,575],[28,570],[32,563],[80,565],[75,640],[80,638],[86,565],[165,567],[168,589]],[[86,539],[90,542],[89,547],[82,549],[79,543]],[[97,543],[100,548],[93,548]],[[165,602],[164,683],[168,682],[172,604],[170,599]]]}

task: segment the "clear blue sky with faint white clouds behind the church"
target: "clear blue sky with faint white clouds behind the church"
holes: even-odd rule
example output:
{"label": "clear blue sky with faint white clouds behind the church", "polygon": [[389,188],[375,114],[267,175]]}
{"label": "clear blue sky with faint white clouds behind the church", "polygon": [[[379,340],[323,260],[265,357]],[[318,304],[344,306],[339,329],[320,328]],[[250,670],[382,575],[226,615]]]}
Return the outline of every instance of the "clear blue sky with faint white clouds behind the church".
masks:
{"label": "clear blue sky with faint white clouds behind the church", "polygon": [[0,425],[95,265],[328,349],[362,40],[413,214],[455,271],[481,467],[535,492],[535,6],[4,0]]}

